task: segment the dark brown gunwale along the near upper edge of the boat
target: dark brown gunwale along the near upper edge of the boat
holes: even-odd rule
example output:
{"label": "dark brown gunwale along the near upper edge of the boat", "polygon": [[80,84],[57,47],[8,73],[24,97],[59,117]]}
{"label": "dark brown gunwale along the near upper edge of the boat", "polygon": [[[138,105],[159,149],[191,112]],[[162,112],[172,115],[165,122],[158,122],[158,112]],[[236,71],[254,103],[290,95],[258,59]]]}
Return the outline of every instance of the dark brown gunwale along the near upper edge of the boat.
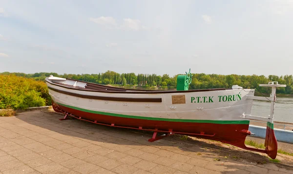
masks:
{"label": "dark brown gunwale along the near upper edge of the boat", "polygon": [[[69,79],[69,78],[66,78]],[[69,79],[69,80],[74,80],[74,79]],[[133,91],[99,91],[99,90],[89,90],[89,89],[81,89],[81,88],[75,88],[75,87],[68,87],[65,85],[60,85],[60,84],[56,84],[52,81],[48,80],[48,77],[45,78],[45,81],[51,85],[54,86],[59,86],[62,88],[67,88],[67,89],[72,89],[72,90],[78,90],[78,91],[85,91],[85,92],[99,92],[99,93],[115,93],[115,94],[169,94],[169,93],[192,93],[192,92],[207,92],[207,91],[226,91],[226,88],[213,88],[213,89],[194,89],[194,90],[187,90],[187,91],[176,91],[176,90],[166,90],[166,91],[151,91],[151,90],[133,90]],[[86,81],[82,81],[82,80],[76,80],[76,81],[80,81],[80,82],[84,82],[84,83],[91,83],[91,82],[86,82]],[[91,83],[91,84],[96,84],[96,83]],[[100,84],[97,84],[100,85]],[[105,85],[102,85],[105,86]],[[105,86],[107,87],[107,86]],[[117,87],[109,87],[109,88],[117,88]],[[118,89],[125,89],[125,88],[118,88]],[[127,90],[127,89],[125,89]],[[132,90],[132,89],[129,89]]]}

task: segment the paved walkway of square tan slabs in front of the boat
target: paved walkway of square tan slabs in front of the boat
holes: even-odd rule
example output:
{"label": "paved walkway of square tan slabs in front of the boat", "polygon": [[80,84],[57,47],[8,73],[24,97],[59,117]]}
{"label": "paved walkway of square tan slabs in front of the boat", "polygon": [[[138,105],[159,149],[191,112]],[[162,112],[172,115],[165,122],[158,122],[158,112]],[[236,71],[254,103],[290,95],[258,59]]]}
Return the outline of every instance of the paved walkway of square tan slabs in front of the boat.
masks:
{"label": "paved walkway of square tan slabs in front of the boat", "polygon": [[128,129],[59,118],[42,111],[0,117],[0,173],[293,174],[168,138],[151,143]]}

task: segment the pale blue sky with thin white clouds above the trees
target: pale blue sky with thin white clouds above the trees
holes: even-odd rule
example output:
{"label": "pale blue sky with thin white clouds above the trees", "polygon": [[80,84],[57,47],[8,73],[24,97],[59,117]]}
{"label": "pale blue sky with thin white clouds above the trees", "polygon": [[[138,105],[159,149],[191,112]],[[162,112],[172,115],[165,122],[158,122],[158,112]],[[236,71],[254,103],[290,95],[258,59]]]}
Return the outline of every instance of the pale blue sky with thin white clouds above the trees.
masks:
{"label": "pale blue sky with thin white clouds above the trees", "polygon": [[0,0],[0,72],[293,74],[293,0]]}

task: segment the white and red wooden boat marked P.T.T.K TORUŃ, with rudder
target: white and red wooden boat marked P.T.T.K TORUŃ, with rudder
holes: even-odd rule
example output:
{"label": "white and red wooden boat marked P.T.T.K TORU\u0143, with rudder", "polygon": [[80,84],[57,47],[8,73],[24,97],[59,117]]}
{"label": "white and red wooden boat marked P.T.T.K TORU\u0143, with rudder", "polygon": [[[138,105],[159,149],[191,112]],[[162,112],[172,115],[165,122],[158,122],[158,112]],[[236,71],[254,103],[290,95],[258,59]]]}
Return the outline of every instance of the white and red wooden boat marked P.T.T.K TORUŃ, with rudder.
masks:
{"label": "white and red wooden boat marked P.T.T.K TORU\u0143, with rudder", "polygon": [[[188,90],[187,75],[177,78],[177,90],[150,91],[110,87],[60,77],[46,77],[52,105],[56,112],[113,127],[153,131],[149,141],[165,135],[181,134],[228,143],[246,150],[277,154],[273,131],[273,109],[276,87],[286,85],[263,84],[272,87],[271,97],[255,97],[254,89],[234,85],[231,89]],[[269,117],[251,116],[253,99],[271,100]],[[244,142],[250,119],[267,121],[265,150],[247,147]]]}

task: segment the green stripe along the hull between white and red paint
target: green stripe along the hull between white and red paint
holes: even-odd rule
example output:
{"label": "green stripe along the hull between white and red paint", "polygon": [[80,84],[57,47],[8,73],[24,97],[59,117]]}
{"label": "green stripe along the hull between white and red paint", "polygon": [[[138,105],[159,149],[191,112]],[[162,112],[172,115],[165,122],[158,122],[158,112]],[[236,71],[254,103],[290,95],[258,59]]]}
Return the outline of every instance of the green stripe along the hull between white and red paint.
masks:
{"label": "green stripe along the hull between white and red paint", "polygon": [[125,118],[134,118],[134,119],[146,119],[146,120],[156,120],[156,121],[173,121],[173,122],[190,122],[190,123],[213,123],[213,124],[249,124],[249,120],[200,120],[200,119],[172,119],[172,118],[156,118],[156,117],[146,117],[146,116],[129,116],[129,115],[122,115],[122,114],[114,114],[114,113],[105,113],[100,111],[92,111],[87,110],[83,108],[78,108],[75,106],[69,106],[65,104],[61,104],[56,102],[57,104],[61,106],[65,106],[67,108],[92,113],[92,114],[100,114],[100,115],[106,115],[106,116],[119,116],[119,117],[125,117]]}

